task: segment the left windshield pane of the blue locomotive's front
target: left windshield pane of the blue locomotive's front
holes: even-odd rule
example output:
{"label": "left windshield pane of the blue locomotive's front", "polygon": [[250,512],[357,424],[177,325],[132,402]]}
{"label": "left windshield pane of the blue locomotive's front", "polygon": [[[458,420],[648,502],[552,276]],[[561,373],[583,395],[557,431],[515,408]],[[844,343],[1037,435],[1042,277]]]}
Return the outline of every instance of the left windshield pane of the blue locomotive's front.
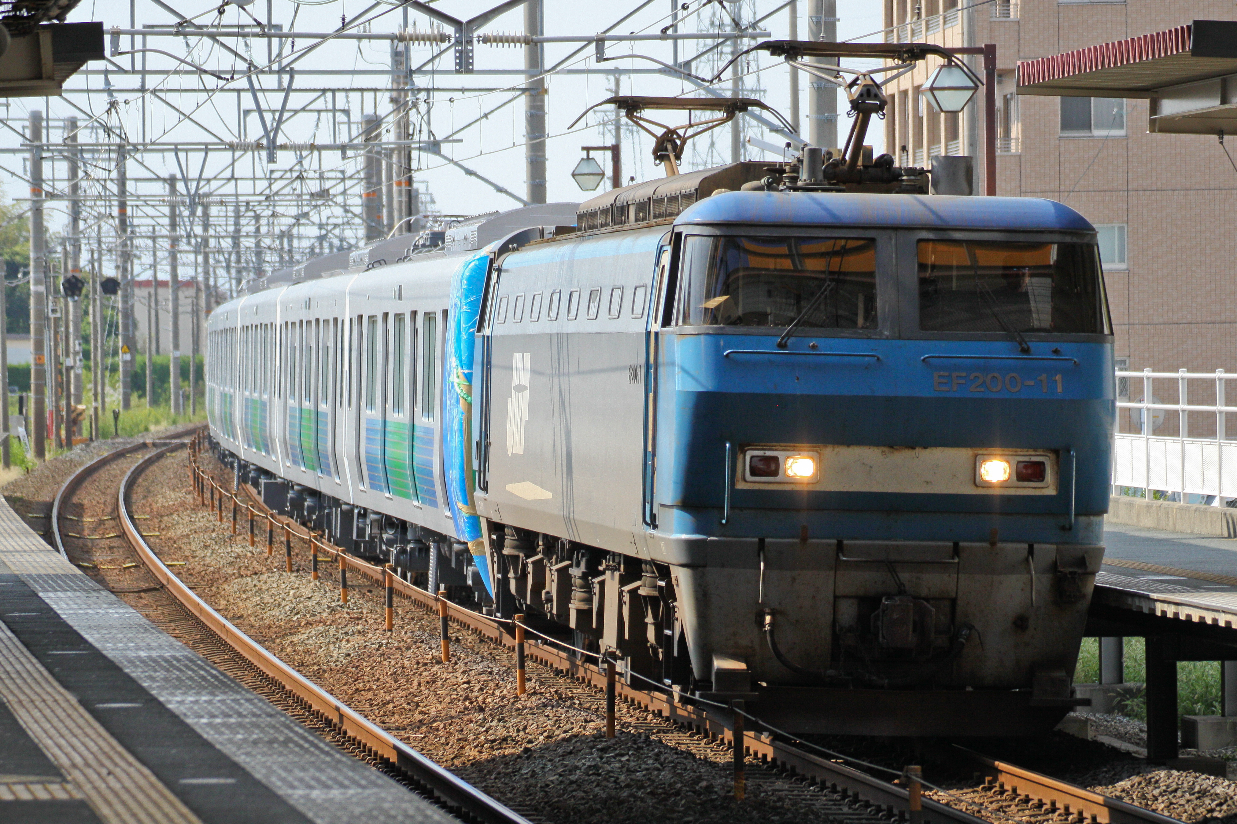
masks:
{"label": "left windshield pane of the blue locomotive's front", "polygon": [[872,238],[689,236],[682,284],[687,326],[877,325]]}

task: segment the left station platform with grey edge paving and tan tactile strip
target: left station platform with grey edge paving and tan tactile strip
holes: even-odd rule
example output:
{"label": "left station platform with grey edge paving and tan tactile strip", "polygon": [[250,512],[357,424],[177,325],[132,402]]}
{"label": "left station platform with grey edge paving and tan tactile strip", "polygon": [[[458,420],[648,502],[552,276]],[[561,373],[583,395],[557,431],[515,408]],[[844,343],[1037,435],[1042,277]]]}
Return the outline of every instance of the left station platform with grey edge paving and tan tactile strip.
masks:
{"label": "left station platform with grey edge paving and tan tactile strip", "polygon": [[0,499],[0,822],[456,822],[79,572]]}

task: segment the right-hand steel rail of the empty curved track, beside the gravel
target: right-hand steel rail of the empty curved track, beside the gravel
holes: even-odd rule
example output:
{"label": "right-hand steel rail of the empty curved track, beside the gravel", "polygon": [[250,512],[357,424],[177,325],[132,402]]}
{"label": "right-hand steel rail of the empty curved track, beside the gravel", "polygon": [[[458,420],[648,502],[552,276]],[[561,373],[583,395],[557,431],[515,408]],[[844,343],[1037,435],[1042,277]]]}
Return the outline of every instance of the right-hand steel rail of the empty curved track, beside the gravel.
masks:
{"label": "right-hand steel rail of the empty curved track, beside the gravel", "polygon": [[[130,467],[116,492],[116,511],[125,539],[160,583],[181,604],[204,625],[223,639],[230,647],[257,667],[262,673],[276,681],[285,689],[304,700],[343,734],[355,739],[370,755],[385,759],[397,765],[406,773],[421,782],[433,796],[452,810],[459,810],[469,818],[484,824],[532,824],[518,813],[507,809],[486,793],[434,763],[417,750],[400,741],[386,730],[376,726],[339,702],[288,665],[267,652],[260,644],[236,629],[226,618],[212,609],[198,598],[151,550],[134,524],[129,511],[129,497],[132,482],[155,461],[172,450],[189,446],[188,441],[178,441],[151,452]],[[105,458],[116,458],[122,451],[111,452]],[[89,466],[99,465],[99,461]]]}

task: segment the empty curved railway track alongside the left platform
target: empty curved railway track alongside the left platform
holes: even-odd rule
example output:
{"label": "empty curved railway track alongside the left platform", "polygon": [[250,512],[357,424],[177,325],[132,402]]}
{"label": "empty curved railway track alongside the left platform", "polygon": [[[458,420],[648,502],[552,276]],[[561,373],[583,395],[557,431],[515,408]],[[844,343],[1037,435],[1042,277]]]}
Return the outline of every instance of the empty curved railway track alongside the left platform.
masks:
{"label": "empty curved railway track alongside the left platform", "polygon": [[146,544],[130,505],[142,471],[187,440],[134,444],[80,467],[52,504],[57,550],[158,626],[328,741],[479,824],[531,824],[271,656],[199,599]]}

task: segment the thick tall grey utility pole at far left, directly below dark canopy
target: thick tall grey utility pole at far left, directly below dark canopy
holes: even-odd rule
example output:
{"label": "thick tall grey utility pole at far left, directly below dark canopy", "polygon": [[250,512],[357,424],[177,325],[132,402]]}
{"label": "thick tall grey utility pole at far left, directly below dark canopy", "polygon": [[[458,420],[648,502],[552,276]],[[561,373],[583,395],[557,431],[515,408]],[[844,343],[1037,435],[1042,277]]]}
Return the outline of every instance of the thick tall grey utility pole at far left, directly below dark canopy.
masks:
{"label": "thick tall grey utility pole at far left, directly below dark canopy", "polygon": [[[47,457],[47,390],[43,338],[47,334],[47,284],[43,279],[43,112],[30,112],[30,404],[31,448]],[[7,390],[6,390],[7,392]]]}

